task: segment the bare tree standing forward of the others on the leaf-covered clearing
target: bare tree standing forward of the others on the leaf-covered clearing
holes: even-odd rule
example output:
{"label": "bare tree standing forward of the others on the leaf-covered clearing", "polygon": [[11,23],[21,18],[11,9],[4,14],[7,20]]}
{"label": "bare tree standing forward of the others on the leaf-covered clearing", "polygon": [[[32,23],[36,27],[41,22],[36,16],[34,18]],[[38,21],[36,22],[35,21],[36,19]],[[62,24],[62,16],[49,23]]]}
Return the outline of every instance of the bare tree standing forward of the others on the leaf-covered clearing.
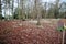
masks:
{"label": "bare tree standing forward of the others on the leaf-covered clearing", "polygon": [[41,19],[41,0],[34,0],[35,4],[35,14],[37,15],[37,25],[40,25],[40,19]]}

